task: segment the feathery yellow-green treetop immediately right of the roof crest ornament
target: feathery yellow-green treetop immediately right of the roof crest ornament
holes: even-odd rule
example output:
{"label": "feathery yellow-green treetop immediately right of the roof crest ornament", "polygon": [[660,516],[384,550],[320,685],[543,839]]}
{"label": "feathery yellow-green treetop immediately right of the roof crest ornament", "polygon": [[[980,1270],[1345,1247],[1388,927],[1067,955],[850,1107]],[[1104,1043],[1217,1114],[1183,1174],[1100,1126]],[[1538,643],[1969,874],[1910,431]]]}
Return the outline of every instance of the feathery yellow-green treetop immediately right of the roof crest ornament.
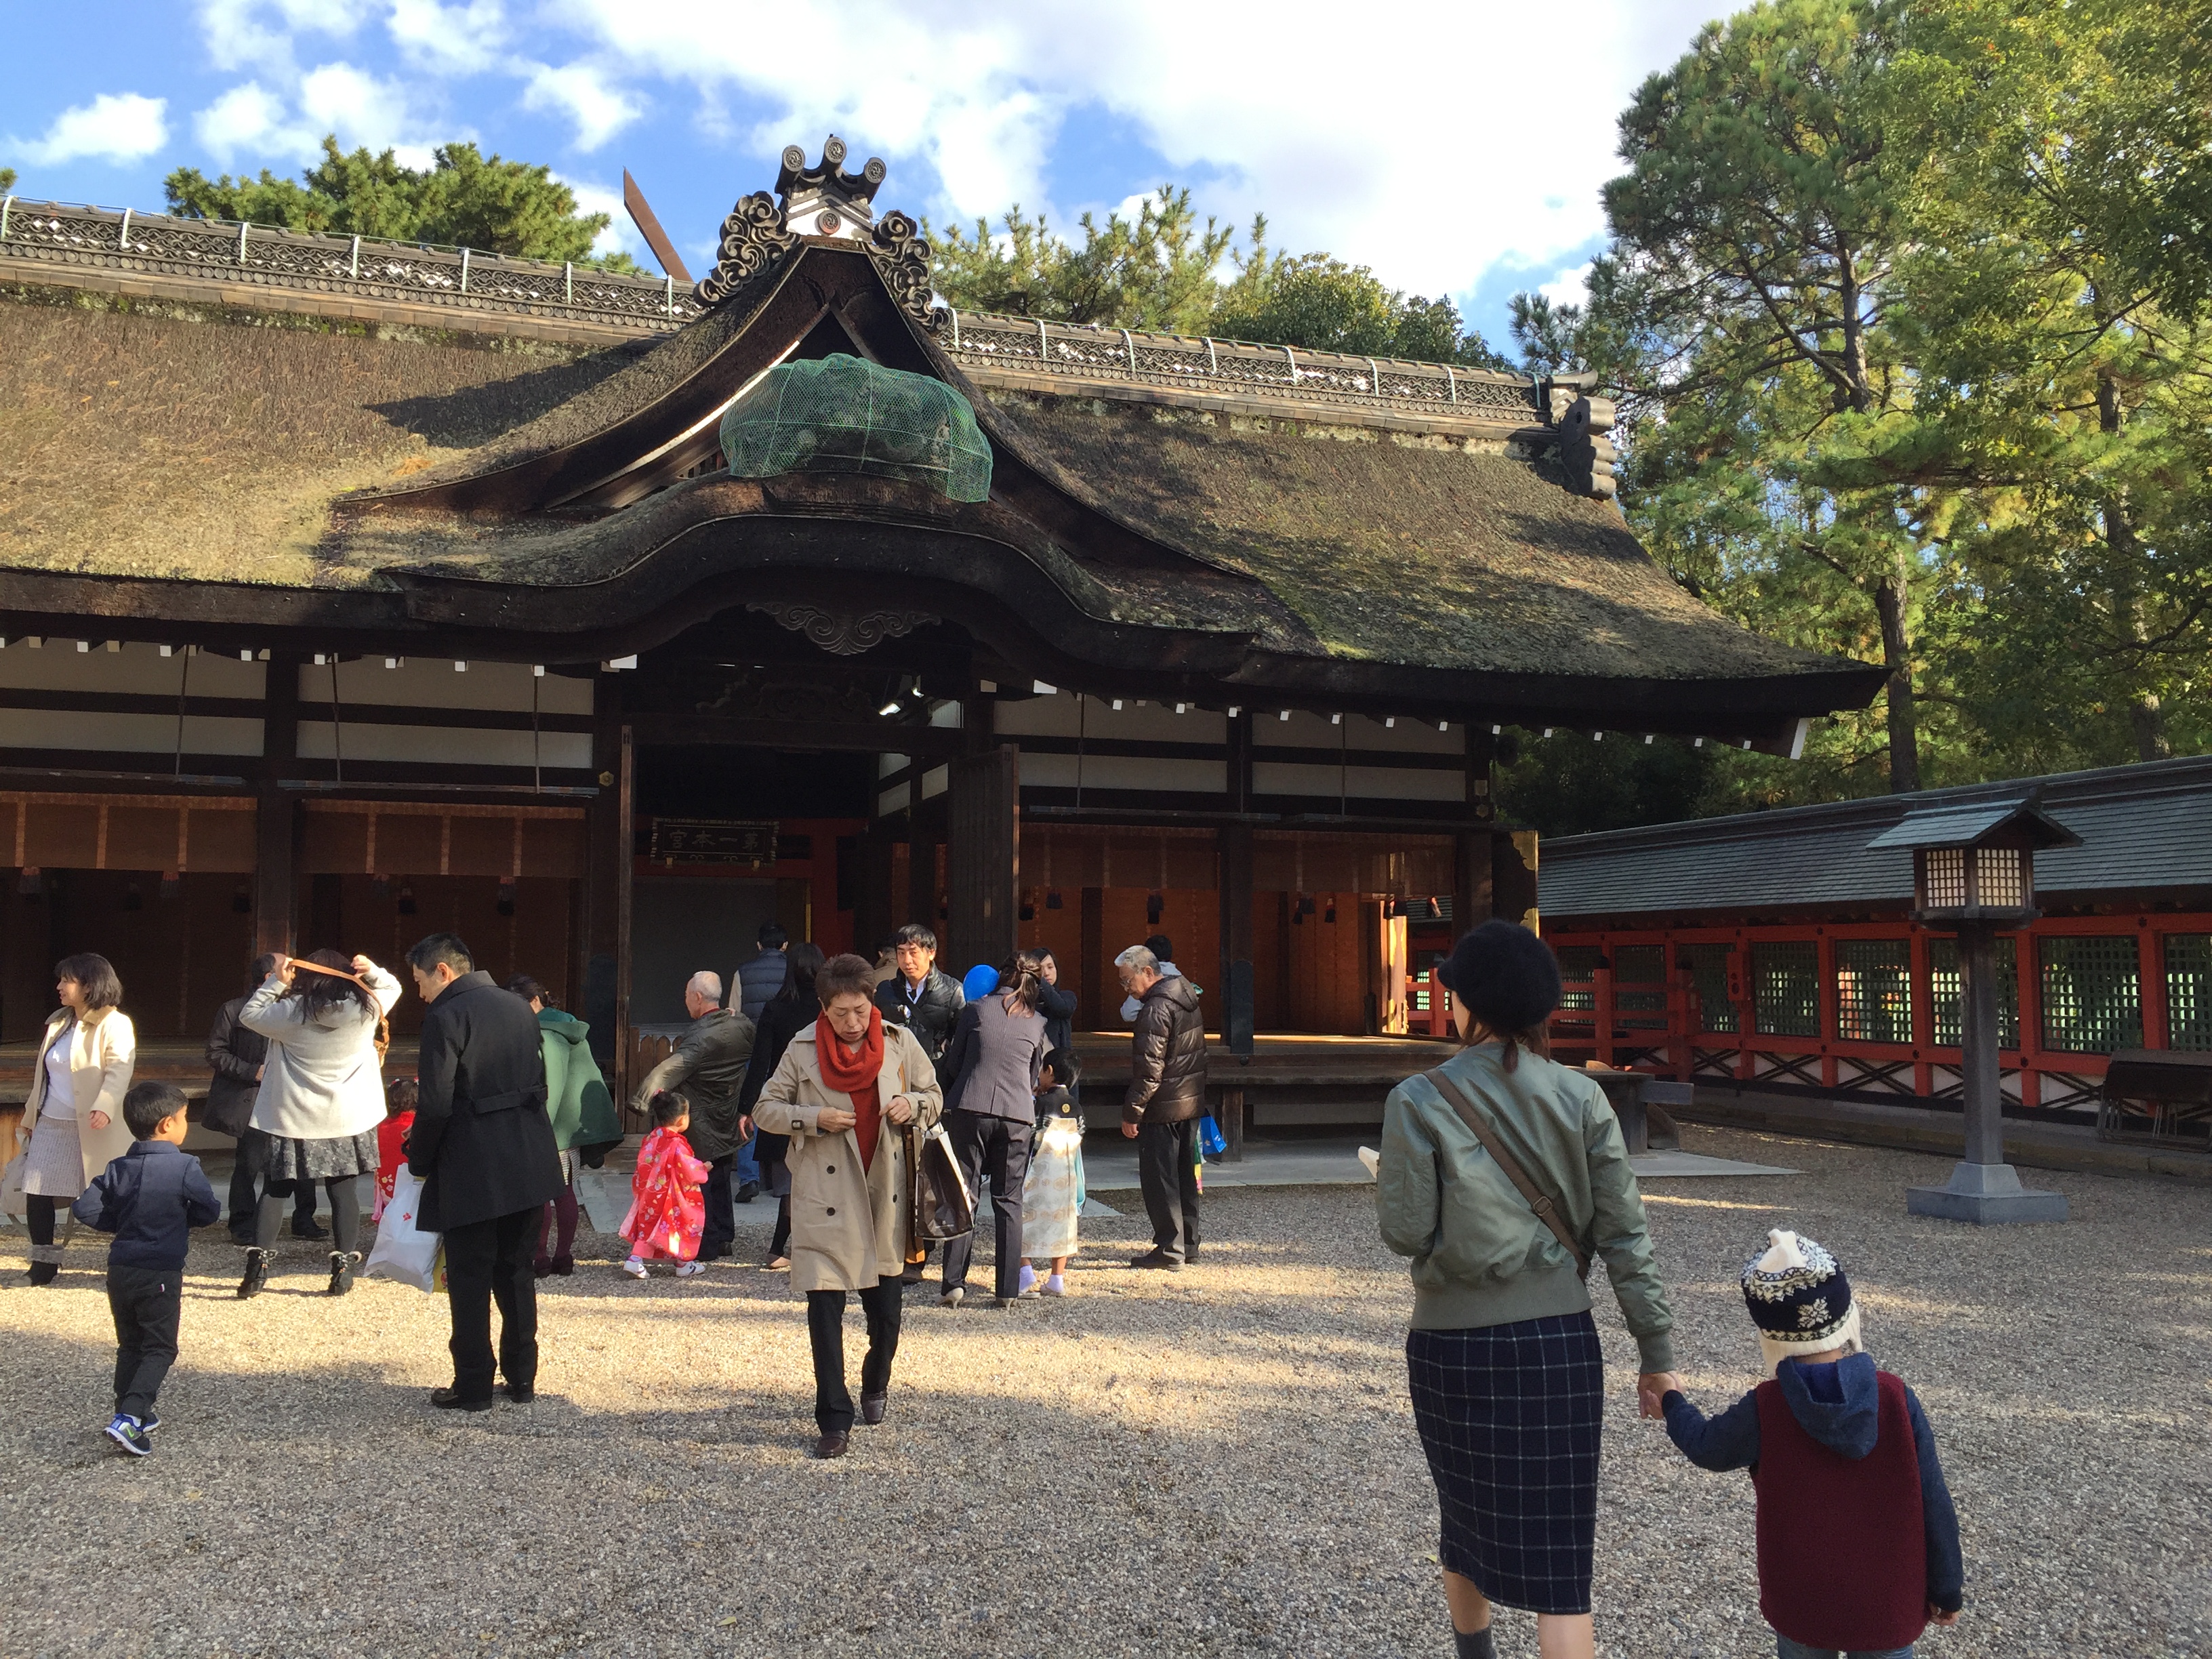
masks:
{"label": "feathery yellow-green treetop immediately right of the roof crest ornament", "polygon": [[[1201,334],[1214,307],[1214,268],[1234,239],[1212,219],[1201,228],[1190,190],[1161,186],[1135,219],[1084,215],[1082,248],[1053,234],[1044,215],[1006,210],[1004,234],[978,219],[929,232],[931,274],[945,303],[960,312],[1042,316],[1053,323],[1102,323],[1161,334]],[[927,230],[927,226],[925,226]]]}

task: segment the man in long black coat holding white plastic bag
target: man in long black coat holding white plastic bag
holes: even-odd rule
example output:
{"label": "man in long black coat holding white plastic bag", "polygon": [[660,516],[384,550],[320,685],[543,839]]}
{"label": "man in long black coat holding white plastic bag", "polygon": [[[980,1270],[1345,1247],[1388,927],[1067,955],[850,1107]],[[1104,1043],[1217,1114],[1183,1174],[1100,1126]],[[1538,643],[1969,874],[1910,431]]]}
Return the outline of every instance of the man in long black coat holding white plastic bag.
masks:
{"label": "man in long black coat holding white plastic bag", "polygon": [[538,1389],[538,1219],[562,1190],[546,1117],[546,1066],[531,1004],[476,971],[453,933],[407,951],[422,1015],[416,1121],[407,1168],[422,1179],[416,1223],[445,1234],[445,1294],[453,1318],[453,1387],[429,1402],[491,1409],[491,1303],[500,1305],[507,1398]]}

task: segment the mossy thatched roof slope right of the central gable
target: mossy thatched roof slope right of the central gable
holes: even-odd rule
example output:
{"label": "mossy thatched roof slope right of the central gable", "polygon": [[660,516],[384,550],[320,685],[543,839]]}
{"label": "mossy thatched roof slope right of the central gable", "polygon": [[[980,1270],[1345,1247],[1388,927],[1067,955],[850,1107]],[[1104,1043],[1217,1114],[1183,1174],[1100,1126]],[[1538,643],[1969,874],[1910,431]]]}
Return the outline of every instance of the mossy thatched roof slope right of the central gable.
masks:
{"label": "mossy thatched roof slope right of the central gable", "polygon": [[[1834,672],[1661,571],[1610,502],[1502,442],[980,392],[1141,535],[1267,586],[1332,657],[1526,675]],[[980,407],[978,414],[984,414]]]}

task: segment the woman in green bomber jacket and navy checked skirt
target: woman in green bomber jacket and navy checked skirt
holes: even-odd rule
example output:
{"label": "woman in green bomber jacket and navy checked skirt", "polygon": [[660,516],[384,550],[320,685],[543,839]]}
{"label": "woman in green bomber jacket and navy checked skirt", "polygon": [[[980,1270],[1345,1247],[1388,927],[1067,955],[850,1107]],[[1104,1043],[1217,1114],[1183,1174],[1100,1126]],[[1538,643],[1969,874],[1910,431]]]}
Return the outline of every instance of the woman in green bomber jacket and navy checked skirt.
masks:
{"label": "woman in green bomber jacket and navy checked skirt", "polygon": [[[1438,969],[1458,1055],[1383,1108],[1376,1210],[1413,1259],[1407,1374],[1436,1478],[1444,1601],[1462,1659],[1491,1659],[1491,1604],[1537,1615],[1544,1659],[1588,1659],[1590,1555],[1606,1367],[1584,1285],[1601,1256],[1641,1354],[1644,1416],[1672,1385],[1674,1323],[1644,1201],[1604,1091],[1553,1064],[1544,1022],[1559,964],[1526,927],[1484,922]],[[1484,1150],[1480,1115],[1573,1250]]]}

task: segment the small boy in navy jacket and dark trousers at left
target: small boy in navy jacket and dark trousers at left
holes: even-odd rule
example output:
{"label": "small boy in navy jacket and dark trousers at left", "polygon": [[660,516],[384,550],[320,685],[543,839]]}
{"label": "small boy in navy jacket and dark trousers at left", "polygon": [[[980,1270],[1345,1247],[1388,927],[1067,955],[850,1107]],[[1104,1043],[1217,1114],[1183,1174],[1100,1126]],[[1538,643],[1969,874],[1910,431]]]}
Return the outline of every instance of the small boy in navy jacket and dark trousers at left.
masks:
{"label": "small boy in navy jacket and dark trousers at left", "polygon": [[108,1245],[108,1312],[115,1314],[115,1418],[108,1440],[133,1458],[153,1451],[148,1438],[161,1418],[153,1400],[177,1363],[177,1321],[184,1316],[184,1252],[192,1228],[212,1225],[215,1201],[206,1170],[184,1148],[184,1091],[175,1084],[137,1084],[124,1095],[131,1150],[108,1164],[71,1214],[88,1228],[113,1232]]}

